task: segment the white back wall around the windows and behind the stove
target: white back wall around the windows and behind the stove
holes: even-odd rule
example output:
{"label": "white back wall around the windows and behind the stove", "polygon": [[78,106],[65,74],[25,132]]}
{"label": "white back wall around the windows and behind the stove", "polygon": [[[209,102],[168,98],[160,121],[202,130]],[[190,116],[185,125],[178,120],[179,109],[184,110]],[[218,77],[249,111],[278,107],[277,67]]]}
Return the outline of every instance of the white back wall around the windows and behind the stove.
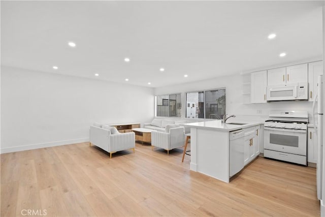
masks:
{"label": "white back wall around the windows and behind the stove", "polygon": [[[249,75],[248,75],[249,76]],[[182,92],[182,118],[185,118],[185,92],[219,87],[226,88],[226,113],[235,114],[234,119],[265,120],[271,110],[307,110],[311,121],[312,102],[290,101],[264,104],[243,104],[247,95],[242,95],[247,75],[232,75],[197,82],[155,88],[155,95]],[[261,112],[261,113],[259,113]],[[233,120],[234,120],[233,119]],[[202,121],[202,119],[201,119]]]}

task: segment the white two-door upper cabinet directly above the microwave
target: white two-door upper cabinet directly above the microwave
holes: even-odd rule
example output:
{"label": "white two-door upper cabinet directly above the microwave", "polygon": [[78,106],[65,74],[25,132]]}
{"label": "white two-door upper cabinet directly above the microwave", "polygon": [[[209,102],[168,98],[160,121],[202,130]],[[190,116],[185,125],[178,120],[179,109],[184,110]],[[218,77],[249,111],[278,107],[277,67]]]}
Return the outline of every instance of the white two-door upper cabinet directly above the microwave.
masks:
{"label": "white two-door upper cabinet directly above the microwave", "polygon": [[268,85],[308,82],[308,64],[268,70]]}

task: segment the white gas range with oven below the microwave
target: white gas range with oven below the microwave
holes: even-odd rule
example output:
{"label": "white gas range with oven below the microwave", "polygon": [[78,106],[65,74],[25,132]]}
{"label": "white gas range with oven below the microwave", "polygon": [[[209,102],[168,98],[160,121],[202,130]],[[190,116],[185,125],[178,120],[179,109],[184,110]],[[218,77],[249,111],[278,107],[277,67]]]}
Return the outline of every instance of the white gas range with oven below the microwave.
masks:
{"label": "white gas range with oven below the microwave", "polygon": [[271,111],[264,122],[264,157],[307,166],[307,111]]}

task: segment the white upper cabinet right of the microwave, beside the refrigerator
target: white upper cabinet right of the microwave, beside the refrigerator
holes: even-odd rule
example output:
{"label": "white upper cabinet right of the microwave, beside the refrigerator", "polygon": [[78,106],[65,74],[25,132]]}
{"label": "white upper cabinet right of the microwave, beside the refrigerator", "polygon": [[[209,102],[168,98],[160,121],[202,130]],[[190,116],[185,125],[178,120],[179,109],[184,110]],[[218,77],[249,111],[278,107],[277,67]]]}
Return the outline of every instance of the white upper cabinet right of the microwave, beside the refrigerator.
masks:
{"label": "white upper cabinet right of the microwave, beside the refrigerator", "polygon": [[314,101],[317,94],[317,78],[323,74],[323,61],[317,61],[308,64],[308,82],[309,82],[309,96],[308,101]]}

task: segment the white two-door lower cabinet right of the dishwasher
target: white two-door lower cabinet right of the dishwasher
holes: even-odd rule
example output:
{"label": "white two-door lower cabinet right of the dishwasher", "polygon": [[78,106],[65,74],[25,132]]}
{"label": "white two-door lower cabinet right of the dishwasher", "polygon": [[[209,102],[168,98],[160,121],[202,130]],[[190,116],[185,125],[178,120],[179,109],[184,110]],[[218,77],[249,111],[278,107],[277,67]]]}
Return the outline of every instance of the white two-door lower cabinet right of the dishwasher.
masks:
{"label": "white two-door lower cabinet right of the dishwasher", "polygon": [[244,139],[244,165],[259,154],[259,126],[248,129]]}

